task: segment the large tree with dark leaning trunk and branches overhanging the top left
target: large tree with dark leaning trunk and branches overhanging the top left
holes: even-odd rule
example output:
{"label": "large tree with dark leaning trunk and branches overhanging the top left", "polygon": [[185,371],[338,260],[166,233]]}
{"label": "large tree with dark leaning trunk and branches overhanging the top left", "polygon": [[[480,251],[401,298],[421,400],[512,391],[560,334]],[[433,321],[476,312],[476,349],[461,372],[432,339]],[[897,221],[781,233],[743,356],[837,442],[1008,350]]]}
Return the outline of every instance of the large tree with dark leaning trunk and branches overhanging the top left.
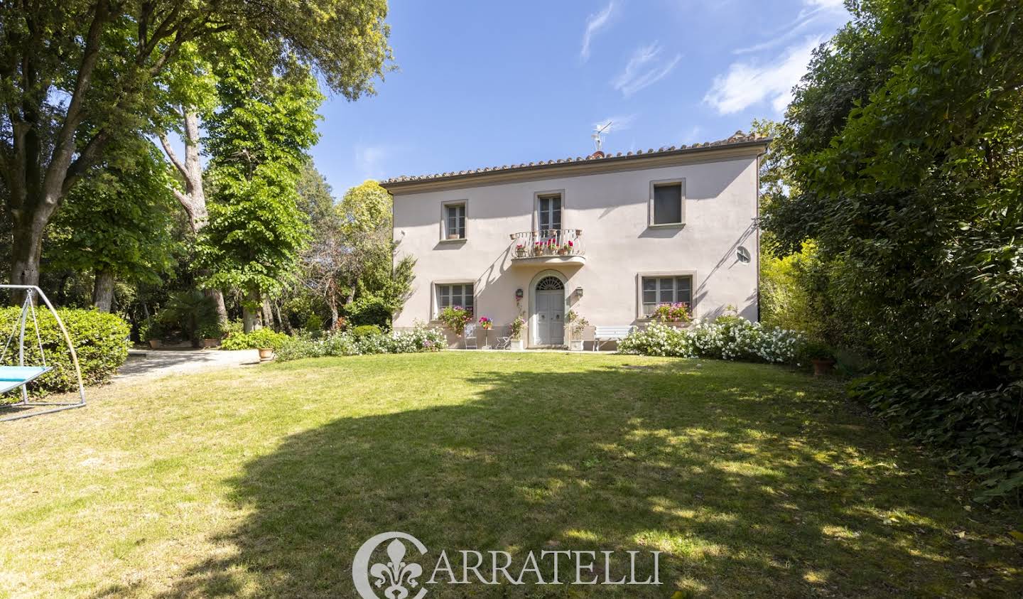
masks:
{"label": "large tree with dark leaning trunk and branches overhanging the top left", "polygon": [[0,177],[13,222],[11,283],[36,284],[46,225],[118,136],[178,99],[168,72],[233,33],[267,66],[298,61],[354,99],[391,58],[386,0],[44,0],[0,3]]}

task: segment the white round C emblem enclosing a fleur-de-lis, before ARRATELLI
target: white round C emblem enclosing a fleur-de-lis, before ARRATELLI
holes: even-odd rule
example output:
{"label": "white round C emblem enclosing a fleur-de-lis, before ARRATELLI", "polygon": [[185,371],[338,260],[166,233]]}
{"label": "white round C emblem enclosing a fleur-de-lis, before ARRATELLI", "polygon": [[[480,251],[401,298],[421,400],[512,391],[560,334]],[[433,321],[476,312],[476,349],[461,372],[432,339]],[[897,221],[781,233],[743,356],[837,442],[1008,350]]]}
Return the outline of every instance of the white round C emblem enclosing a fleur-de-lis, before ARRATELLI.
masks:
{"label": "white round C emblem enclosing a fleur-de-lis, before ARRATELLI", "polygon": [[[427,547],[418,539],[405,532],[384,532],[362,544],[352,560],[352,581],[362,599],[420,599],[427,590],[415,580],[422,575],[422,566],[406,562],[404,540],[419,554],[427,553]],[[390,541],[390,543],[388,543]],[[387,563],[370,563],[377,547],[387,543]],[[370,583],[370,576],[375,579]],[[375,587],[375,589],[374,589]],[[383,595],[377,595],[377,589]]]}

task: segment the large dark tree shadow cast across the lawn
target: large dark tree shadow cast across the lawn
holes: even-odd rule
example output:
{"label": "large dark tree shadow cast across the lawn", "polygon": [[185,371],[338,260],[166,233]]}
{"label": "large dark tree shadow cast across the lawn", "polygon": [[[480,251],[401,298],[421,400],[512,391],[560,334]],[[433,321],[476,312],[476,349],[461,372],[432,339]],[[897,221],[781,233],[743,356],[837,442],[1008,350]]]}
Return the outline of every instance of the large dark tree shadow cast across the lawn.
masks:
{"label": "large dark tree shadow cast across the lawn", "polygon": [[166,596],[354,597],[354,552],[388,530],[430,549],[420,582],[440,549],[517,563],[530,550],[665,552],[660,588],[435,585],[428,597],[959,594],[1006,559],[950,533],[962,522],[947,521],[954,502],[935,473],[873,422],[826,387],[764,372],[452,373],[473,383],[470,401],[337,420],[250,463],[232,482],[251,516],[218,540],[233,551]]}

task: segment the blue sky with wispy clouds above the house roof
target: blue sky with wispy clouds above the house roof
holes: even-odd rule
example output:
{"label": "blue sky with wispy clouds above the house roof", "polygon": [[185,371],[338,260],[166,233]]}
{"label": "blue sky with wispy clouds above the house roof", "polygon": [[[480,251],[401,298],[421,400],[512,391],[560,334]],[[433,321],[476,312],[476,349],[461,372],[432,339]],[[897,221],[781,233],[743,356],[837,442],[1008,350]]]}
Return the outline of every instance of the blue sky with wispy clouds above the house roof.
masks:
{"label": "blue sky with wispy clouds above the house roof", "polygon": [[393,0],[397,70],[320,109],[337,197],[365,179],[712,141],[777,119],[841,0]]}

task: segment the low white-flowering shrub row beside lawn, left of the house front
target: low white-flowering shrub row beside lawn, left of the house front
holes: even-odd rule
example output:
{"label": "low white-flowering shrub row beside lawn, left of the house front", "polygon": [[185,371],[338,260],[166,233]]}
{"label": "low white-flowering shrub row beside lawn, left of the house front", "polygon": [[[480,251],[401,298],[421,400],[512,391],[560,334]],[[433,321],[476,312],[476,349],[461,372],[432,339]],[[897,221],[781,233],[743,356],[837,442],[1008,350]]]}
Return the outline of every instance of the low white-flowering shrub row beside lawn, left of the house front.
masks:
{"label": "low white-flowering shrub row beside lawn, left of the house front", "polygon": [[362,355],[370,353],[416,353],[440,351],[447,346],[444,334],[437,329],[416,326],[411,331],[374,333],[356,336],[349,331],[314,339],[299,336],[288,339],[277,351],[277,359],[287,361],[324,355]]}

